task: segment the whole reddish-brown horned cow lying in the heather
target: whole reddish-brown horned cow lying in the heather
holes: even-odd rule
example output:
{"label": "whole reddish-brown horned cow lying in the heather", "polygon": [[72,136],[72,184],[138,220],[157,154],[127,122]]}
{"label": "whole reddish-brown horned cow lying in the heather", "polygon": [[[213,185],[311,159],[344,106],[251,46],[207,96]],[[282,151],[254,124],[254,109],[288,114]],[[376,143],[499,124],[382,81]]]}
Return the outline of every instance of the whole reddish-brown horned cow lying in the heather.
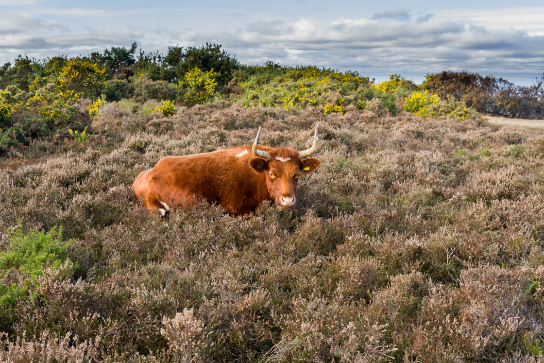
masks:
{"label": "whole reddish-brown horned cow lying in the heather", "polygon": [[287,209],[295,204],[300,174],[311,174],[321,164],[316,158],[302,160],[316,152],[317,130],[312,147],[299,152],[290,147],[258,149],[259,127],[253,145],[163,157],[140,173],[132,187],[150,212],[158,210],[163,217],[176,205],[192,204],[195,196],[236,216],[255,211],[263,200]]}

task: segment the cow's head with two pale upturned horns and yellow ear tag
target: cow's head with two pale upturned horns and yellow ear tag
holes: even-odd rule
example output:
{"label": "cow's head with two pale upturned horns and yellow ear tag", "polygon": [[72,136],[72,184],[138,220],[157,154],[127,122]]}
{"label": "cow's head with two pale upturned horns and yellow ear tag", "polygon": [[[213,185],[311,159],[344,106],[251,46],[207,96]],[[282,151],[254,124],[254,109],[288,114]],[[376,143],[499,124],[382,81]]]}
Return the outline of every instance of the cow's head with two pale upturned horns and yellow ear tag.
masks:
{"label": "cow's head with two pale upturned horns and yellow ear tag", "polygon": [[317,150],[317,129],[310,149],[296,151],[290,147],[278,147],[271,151],[258,150],[257,144],[261,136],[261,127],[253,143],[256,158],[249,161],[256,173],[264,173],[267,180],[268,193],[280,209],[287,209],[295,204],[296,183],[301,174],[311,174],[321,162],[316,158],[302,159]]}

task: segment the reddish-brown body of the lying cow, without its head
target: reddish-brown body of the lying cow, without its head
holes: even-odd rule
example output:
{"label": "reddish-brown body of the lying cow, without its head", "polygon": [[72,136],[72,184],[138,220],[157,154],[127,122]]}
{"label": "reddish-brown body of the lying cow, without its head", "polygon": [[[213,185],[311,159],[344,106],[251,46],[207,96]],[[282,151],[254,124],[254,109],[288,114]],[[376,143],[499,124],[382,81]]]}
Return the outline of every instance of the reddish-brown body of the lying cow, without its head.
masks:
{"label": "reddish-brown body of the lying cow, without its head", "polygon": [[170,207],[189,205],[196,196],[230,213],[246,214],[268,199],[263,176],[249,165],[253,157],[250,145],[167,156],[138,175],[134,192],[149,208],[159,209],[163,203]]}

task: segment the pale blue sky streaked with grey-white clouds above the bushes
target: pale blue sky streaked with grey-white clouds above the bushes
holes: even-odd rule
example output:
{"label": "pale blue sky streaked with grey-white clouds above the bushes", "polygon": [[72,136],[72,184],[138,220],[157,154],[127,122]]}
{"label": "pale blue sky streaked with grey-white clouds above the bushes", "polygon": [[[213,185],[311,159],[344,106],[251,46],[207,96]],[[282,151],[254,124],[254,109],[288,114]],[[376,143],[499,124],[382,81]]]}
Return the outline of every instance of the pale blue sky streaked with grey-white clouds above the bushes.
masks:
{"label": "pale blue sky streaked with grey-white clouds above the bushes", "polygon": [[452,70],[530,85],[544,73],[544,1],[0,0],[0,64],[133,42],[160,53],[212,42],[242,64],[317,65],[378,82]]}

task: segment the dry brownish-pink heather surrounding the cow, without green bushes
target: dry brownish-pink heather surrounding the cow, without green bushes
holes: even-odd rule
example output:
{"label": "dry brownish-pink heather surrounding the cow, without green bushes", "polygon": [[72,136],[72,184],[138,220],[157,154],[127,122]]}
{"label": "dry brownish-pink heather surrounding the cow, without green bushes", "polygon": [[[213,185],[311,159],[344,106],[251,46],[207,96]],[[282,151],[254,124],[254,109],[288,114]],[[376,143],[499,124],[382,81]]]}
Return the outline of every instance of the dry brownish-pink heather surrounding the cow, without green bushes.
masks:
{"label": "dry brownish-pink heather surrounding the cow, without green bushes", "polygon": [[[263,145],[305,149],[317,122],[322,166],[292,210],[201,203],[164,222],[135,201],[163,156],[249,144],[258,126]],[[1,361],[541,361],[544,130],[119,102],[92,133],[0,160],[0,251],[18,221],[61,225],[75,263],[0,314]]]}

